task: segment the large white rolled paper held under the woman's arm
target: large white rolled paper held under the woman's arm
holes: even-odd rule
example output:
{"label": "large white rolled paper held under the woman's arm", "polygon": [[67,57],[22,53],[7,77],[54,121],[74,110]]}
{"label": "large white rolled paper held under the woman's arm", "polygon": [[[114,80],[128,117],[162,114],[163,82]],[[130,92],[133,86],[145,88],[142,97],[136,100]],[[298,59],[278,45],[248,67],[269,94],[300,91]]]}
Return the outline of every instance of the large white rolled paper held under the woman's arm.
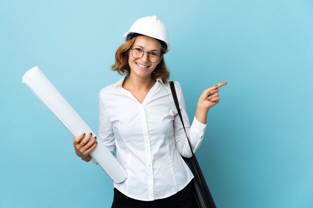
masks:
{"label": "large white rolled paper held under the woman's arm", "polygon": [[[74,137],[77,137],[81,132],[91,132],[95,136],[94,132],[38,67],[29,69],[22,77],[22,82]],[[90,155],[114,183],[118,184],[126,179],[126,171],[102,143],[99,142]]]}

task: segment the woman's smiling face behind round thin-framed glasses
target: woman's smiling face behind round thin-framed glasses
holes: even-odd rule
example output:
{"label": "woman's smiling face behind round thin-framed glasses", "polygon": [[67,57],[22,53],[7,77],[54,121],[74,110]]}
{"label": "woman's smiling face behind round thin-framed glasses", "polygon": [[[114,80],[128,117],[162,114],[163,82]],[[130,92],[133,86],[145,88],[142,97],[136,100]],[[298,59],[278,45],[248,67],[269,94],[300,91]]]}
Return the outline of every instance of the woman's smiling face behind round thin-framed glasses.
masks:
{"label": "woman's smiling face behind round thin-framed glasses", "polygon": [[[147,52],[157,52],[161,54],[161,44],[154,38],[148,36],[137,36],[131,48],[140,48]],[[148,60],[148,53],[144,53],[141,58],[135,59],[131,55],[131,49],[128,54],[128,64],[130,67],[129,76],[136,76],[138,78],[151,77],[152,71],[155,69],[157,64],[160,62],[162,57],[155,63],[151,63]]]}

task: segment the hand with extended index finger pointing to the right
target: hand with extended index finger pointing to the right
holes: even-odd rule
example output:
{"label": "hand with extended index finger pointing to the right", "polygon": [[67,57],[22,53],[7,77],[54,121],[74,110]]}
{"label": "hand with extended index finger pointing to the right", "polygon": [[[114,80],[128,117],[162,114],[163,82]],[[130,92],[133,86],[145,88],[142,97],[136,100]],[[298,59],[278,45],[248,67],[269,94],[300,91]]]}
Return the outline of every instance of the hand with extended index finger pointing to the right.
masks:
{"label": "hand with extended index finger pointing to the right", "polygon": [[212,87],[207,88],[200,95],[196,105],[195,118],[206,124],[207,111],[219,102],[218,91],[219,87],[226,85],[227,82],[220,82]]}

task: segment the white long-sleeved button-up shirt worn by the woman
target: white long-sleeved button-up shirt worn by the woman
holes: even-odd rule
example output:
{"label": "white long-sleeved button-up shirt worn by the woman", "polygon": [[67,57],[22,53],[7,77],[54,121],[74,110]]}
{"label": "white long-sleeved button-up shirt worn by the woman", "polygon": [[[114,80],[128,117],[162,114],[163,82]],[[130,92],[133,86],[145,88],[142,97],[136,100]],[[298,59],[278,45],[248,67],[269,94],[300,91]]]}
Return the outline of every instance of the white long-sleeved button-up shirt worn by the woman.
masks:
{"label": "white long-sleeved button-up shirt worn by the woman", "polygon": [[[183,157],[191,157],[169,84],[157,79],[142,104],[122,88],[123,78],[99,93],[98,140],[127,172],[123,183],[114,187],[141,201],[169,197],[182,190],[193,178]],[[189,125],[181,88],[174,82],[187,135],[195,152],[205,131],[193,119]],[[94,160],[90,161],[94,163]]]}

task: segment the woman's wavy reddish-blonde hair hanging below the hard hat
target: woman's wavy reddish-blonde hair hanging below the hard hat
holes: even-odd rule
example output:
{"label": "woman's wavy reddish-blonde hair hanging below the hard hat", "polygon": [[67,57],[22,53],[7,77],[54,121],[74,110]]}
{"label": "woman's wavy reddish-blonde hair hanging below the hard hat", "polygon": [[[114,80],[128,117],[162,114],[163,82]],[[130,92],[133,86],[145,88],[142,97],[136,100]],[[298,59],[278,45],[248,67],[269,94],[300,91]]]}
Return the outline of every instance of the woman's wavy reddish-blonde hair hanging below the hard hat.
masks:
{"label": "woman's wavy reddish-blonde hair hanging below the hard hat", "polygon": [[[130,73],[130,67],[128,64],[128,56],[129,51],[136,40],[137,37],[132,38],[131,40],[123,43],[120,45],[115,53],[115,63],[112,65],[111,70],[117,71],[120,75],[126,75],[129,76]],[[166,67],[165,60],[163,54],[166,53],[166,50],[161,47],[161,56],[162,59],[160,62],[156,65],[155,69],[152,72],[152,79],[162,79],[163,83],[166,83],[169,78],[169,71]]]}

